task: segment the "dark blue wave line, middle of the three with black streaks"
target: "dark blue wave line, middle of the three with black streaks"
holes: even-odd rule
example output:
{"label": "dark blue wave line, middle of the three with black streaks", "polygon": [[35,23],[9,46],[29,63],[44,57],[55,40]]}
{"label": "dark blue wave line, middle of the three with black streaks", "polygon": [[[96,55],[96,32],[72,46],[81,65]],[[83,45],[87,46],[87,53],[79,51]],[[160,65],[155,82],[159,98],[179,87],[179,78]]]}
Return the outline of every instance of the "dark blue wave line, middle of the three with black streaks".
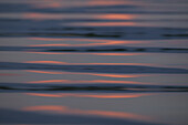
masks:
{"label": "dark blue wave line, middle of the three with black streaks", "polygon": [[187,48],[132,48],[132,46],[0,46],[0,51],[25,52],[160,52],[188,53]]}

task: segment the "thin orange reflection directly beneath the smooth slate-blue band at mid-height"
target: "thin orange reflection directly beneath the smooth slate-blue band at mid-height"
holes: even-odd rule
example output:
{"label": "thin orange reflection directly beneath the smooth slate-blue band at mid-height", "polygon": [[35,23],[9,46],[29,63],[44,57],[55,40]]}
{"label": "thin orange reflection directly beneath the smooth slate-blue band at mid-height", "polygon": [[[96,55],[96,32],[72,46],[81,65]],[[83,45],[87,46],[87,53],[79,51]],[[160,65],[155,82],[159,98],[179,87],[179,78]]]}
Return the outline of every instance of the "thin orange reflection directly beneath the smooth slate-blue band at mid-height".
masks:
{"label": "thin orange reflection directly beneath the smooth slate-blue band at mid-height", "polygon": [[35,71],[25,70],[27,72],[33,73],[44,73],[44,74],[83,74],[83,75],[96,75],[96,76],[107,76],[107,77],[139,77],[139,76],[150,76],[150,74],[107,74],[107,73],[79,73],[79,72],[50,72],[50,71]]}

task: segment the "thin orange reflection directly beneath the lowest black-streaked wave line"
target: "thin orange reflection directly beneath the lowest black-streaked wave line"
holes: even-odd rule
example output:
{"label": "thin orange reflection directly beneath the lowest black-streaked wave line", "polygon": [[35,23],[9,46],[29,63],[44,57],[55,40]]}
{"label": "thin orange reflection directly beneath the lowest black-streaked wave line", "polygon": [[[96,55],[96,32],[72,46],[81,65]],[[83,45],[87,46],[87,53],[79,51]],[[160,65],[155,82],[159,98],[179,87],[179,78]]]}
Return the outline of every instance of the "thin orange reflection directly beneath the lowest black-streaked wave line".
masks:
{"label": "thin orange reflection directly beneath the lowest black-streaked wave line", "polygon": [[133,94],[82,94],[82,93],[56,93],[56,94],[41,94],[41,93],[27,93],[28,95],[32,96],[45,96],[45,97],[92,97],[92,98],[134,98],[134,97],[140,97],[140,96],[148,96],[153,94],[139,94],[139,93],[133,93]]}

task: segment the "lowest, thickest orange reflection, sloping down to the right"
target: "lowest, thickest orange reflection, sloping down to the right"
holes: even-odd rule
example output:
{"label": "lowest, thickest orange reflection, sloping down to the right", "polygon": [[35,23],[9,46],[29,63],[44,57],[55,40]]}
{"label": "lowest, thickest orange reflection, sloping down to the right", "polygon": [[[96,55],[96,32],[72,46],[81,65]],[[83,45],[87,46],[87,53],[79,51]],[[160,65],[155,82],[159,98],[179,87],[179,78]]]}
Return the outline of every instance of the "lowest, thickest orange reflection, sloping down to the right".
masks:
{"label": "lowest, thickest orange reflection, sloping down to the right", "polygon": [[132,114],[132,113],[111,112],[111,111],[83,111],[76,108],[69,108],[66,106],[61,106],[61,105],[28,106],[28,107],[23,107],[22,111],[30,111],[30,112],[52,111],[54,113],[61,113],[61,114],[97,115],[97,116],[105,116],[105,117],[132,118],[132,119],[142,119],[142,121],[152,119],[147,116]]}

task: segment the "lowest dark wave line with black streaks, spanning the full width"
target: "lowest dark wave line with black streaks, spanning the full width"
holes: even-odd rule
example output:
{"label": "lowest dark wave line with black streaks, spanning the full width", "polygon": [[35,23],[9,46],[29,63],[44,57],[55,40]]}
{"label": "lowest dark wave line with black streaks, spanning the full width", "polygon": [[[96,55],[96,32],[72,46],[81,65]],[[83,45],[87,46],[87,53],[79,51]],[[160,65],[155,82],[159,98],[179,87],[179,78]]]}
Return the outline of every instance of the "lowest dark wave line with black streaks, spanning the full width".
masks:
{"label": "lowest dark wave line with black streaks, spanning the full width", "polygon": [[188,86],[147,86],[147,85],[136,85],[136,86],[121,86],[121,85],[87,85],[87,86],[74,86],[74,85],[66,85],[66,86],[44,86],[44,87],[18,87],[18,86],[8,86],[8,85],[0,85],[1,91],[59,91],[59,92],[66,92],[66,91],[94,91],[94,92],[188,92]]}

